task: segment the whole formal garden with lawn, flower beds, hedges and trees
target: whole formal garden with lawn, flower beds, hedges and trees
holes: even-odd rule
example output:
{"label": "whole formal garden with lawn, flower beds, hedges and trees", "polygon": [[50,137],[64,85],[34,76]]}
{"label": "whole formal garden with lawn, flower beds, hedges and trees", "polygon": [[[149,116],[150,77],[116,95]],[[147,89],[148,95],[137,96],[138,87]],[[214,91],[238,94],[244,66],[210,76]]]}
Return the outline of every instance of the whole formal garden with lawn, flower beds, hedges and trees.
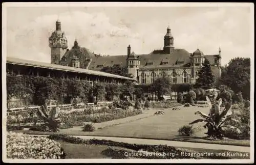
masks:
{"label": "whole formal garden with lawn, flower beds, hedges and trees", "polygon": [[[205,63],[207,66],[207,61]],[[248,84],[225,84],[226,76],[232,75],[230,69],[234,70],[224,68],[225,77],[215,82],[211,70],[202,67],[194,86],[172,84],[165,73],[152,85],[143,87],[129,81],[123,85],[98,82],[91,86],[77,79],[7,75],[7,157],[249,158],[248,152],[228,156],[236,152],[129,144],[97,138],[84,140],[73,136],[137,137],[249,147]],[[173,97],[174,91],[177,95]],[[171,95],[171,99],[165,100],[164,95]],[[12,101],[13,98],[23,100]],[[17,152],[22,154],[15,154]],[[184,156],[184,152],[194,154]],[[202,154],[204,152],[229,154],[209,156]]]}

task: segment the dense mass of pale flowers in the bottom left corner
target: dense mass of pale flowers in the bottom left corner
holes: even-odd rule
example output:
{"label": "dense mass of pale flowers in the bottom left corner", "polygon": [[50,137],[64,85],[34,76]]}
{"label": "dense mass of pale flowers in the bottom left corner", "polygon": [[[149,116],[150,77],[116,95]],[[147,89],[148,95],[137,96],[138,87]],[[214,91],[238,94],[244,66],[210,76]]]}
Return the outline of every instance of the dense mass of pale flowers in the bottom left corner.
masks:
{"label": "dense mass of pale flowers in the bottom left corner", "polygon": [[7,133],[7,158],[60,159],[66,154],[60,144],[47,137],[34,137],[23,133]]}

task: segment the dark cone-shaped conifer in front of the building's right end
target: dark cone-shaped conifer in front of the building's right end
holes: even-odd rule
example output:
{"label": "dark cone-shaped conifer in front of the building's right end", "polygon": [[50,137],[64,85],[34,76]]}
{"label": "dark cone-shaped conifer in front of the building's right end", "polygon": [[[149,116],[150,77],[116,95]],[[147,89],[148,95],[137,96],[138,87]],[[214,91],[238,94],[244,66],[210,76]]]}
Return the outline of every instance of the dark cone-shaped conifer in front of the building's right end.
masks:
{"label": "dark cone-shaped conifer in front of the building's right end", "polygon": [[199,69],[197,75],[196,88],[210,89],[214,87],[215,77],[207,59],[204,60],[203,66]]}

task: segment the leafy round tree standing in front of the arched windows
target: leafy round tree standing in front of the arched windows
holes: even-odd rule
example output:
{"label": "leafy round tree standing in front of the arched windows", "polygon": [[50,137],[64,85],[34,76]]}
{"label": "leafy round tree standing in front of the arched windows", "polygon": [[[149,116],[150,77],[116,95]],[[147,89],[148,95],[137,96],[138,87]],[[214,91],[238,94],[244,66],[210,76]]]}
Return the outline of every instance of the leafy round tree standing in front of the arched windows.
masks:
{"label": "leafy round tree standing in front of the arched windows", "polygon": [[162,72],[160,77],[153,82],[151,85],[151,91],[152,93],[157,93],[158,99],[160,99],[161,96],[168,95],[172,92],[172,83],[165,72]]}

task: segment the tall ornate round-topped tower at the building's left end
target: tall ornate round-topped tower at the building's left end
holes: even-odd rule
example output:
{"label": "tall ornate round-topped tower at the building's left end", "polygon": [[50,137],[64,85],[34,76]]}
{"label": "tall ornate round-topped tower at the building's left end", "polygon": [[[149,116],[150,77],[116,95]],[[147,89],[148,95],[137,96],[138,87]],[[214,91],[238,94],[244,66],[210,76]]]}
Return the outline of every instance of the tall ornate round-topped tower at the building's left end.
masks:
{"label": "tall ornate round-topped tower at the building's left end", "polygon": [[68,48],[68,40],[65,33],[61,31],[61,23],[56,21],[56,30],[49,37],[49,46],[51,48],[51,63],[59,64],[61,57]]}

